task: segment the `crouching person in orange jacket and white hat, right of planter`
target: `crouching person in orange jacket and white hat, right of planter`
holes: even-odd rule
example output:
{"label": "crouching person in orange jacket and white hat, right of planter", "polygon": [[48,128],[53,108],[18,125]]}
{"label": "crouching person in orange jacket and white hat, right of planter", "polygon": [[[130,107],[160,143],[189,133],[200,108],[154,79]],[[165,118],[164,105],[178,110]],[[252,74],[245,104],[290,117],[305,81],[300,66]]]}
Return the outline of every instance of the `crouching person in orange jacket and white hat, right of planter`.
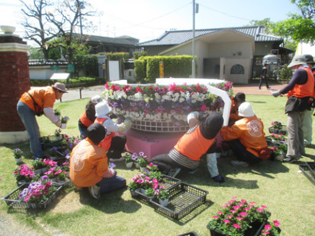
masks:
{"label": "crouching person in orange jacket and white hat, right of planter", "polygon": [[238,107],[238,115],[242,119],[231,127],[222,127],[220,135],[227,141],[229,148],[236,155],[234,166],[249,166],[270,157],[271,150],[267,147],[264,124],[255,116],[251,104],[245,102]]}

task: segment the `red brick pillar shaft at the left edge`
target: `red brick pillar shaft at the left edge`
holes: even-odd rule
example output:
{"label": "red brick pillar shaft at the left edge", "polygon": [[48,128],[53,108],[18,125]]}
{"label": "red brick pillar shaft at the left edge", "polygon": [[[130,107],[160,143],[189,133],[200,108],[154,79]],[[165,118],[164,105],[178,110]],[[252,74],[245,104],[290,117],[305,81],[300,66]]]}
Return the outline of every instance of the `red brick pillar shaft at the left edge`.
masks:
{"label": "red brick pillar shaft at the left edge", "polygon": [[30,84],[27,53],[0,51],[0,132],[25,131],[16,104]]}

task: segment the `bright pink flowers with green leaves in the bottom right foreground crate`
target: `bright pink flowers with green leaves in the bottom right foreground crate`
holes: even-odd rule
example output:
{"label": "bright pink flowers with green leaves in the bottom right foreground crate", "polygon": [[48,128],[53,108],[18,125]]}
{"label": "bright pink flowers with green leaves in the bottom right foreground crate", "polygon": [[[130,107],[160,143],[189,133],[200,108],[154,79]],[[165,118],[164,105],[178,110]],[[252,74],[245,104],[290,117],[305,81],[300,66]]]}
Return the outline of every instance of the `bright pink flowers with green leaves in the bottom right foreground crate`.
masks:
{"label": "bright pink flowers with green leaves in the bottom right foreground crate", "polygon": [[247,200],[236,201],[236,197],[232,198],[225,203],[222,211],[213,216],[209,227],[225,235],[244,235],[251,223],[265,222],[270,215],[266,206],[255,207],[255,203]]}

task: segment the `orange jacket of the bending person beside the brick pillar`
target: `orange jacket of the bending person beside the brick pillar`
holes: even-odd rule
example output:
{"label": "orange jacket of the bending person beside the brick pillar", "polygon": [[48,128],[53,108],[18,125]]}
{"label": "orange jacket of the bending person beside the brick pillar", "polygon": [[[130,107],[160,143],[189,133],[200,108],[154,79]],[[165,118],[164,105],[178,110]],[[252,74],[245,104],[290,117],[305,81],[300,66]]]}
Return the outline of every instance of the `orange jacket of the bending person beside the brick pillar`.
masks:
{"label": "orange jacket of the bending person beside the brick pillar", "polygon": [[[53,107],[53,103],[55,103],[55,91],[53,91],[52,87],[46,88],[35,88],[33,90],[29,90],[29,94],[33,97],[34,101],[37,105],[44,109],[45,107]],[[34,112],[34,101],[31,99],[26,92],[21,96],[20,101],[28,105]]]}

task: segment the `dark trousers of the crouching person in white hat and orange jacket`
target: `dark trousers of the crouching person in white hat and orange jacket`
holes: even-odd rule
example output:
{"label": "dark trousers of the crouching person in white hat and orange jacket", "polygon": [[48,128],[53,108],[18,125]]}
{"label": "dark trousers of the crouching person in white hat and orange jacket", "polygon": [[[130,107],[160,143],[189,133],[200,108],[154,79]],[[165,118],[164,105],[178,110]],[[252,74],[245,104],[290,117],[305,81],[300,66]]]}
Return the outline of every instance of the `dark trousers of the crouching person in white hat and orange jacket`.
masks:
{"label": "dark trousers of the crouching person in white hat and orange jacket", "polygon": [[240,140],[231,140],[226,142],[229,144],[229,148],[231,148],[234,155],[236,155],[236,159],[238,159],[238,161],[245,161],[251,164],[262,161],[260,157],[256,157],[253,153],[246,150],[246,147],[240,142]]}

